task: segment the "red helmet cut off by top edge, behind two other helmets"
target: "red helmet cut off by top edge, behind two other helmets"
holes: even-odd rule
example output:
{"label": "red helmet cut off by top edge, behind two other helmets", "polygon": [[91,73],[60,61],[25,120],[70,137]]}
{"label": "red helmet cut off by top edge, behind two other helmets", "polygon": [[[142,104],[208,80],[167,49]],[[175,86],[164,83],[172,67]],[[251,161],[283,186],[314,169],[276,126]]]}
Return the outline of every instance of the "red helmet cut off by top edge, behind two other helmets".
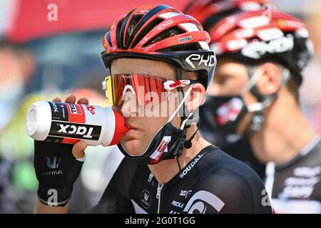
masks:
{"label": "red helmet cut off by top edge, behind two other helmets", "polygon": [[191,0],[183,12],[195,17],[208,31],[226,16],[260,10],[266,3],[266,0]]}

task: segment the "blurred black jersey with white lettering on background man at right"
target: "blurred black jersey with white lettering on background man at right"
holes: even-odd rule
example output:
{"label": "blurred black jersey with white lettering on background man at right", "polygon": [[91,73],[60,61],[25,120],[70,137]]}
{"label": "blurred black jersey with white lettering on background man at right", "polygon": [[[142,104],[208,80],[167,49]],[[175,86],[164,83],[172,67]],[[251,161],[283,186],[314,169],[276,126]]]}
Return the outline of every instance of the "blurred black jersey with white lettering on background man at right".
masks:
{"label": "blurred black jersey with white lettering on background man at right", "polygon": [[295,158],[267,164],[265,187],[277,213],[321,213],[321,142],[317,137]]}

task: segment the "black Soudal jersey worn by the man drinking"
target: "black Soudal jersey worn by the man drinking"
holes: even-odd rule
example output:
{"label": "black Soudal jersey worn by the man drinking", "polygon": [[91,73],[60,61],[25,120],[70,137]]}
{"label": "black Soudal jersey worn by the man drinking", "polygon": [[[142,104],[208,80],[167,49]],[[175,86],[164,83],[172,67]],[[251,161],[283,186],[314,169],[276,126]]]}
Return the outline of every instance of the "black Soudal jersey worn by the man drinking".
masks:
{"label": "black Soudal jersey worn by the man drinking", "polygon": [[125,157],[92,213],[272,213],[260,177],[209,145],[164,185]]}

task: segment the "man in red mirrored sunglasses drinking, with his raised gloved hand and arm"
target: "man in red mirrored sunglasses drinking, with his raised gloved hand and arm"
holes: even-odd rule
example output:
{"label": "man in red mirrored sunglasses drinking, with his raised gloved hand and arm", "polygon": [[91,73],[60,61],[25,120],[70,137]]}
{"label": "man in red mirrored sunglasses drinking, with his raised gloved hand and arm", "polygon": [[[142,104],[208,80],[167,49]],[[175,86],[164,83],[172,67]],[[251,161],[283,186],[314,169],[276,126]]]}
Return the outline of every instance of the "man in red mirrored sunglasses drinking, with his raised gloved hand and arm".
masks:
{"label": "man in red mirrored sunglasses drinking, with his raised gloved hand and arm", "polygon": [[[272,212],[258,175],[198,133],[197,110],[216,64],[209,41],[198,21],[165,5],[133,9],[106,33],[101,58],[111,75],[103,84],[130,130],[118,143],[125,158],[91,212]],[[85,148],[35,142],[35,212],[67,212]],[[49,155],[61,157],[63,174],[42,175]]]}

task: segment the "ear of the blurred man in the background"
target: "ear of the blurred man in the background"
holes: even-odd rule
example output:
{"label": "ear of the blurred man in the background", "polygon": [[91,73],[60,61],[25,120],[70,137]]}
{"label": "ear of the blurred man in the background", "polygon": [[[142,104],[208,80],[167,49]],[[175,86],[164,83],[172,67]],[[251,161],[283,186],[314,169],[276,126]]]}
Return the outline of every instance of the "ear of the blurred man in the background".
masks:
{"label": "ear of the blurred man in the background", "polygon": [[256,83],[262,95],[271,95],[280,89],[282,82],[282,71],[274,63],[264,63],[260,66],[262,76]]}

